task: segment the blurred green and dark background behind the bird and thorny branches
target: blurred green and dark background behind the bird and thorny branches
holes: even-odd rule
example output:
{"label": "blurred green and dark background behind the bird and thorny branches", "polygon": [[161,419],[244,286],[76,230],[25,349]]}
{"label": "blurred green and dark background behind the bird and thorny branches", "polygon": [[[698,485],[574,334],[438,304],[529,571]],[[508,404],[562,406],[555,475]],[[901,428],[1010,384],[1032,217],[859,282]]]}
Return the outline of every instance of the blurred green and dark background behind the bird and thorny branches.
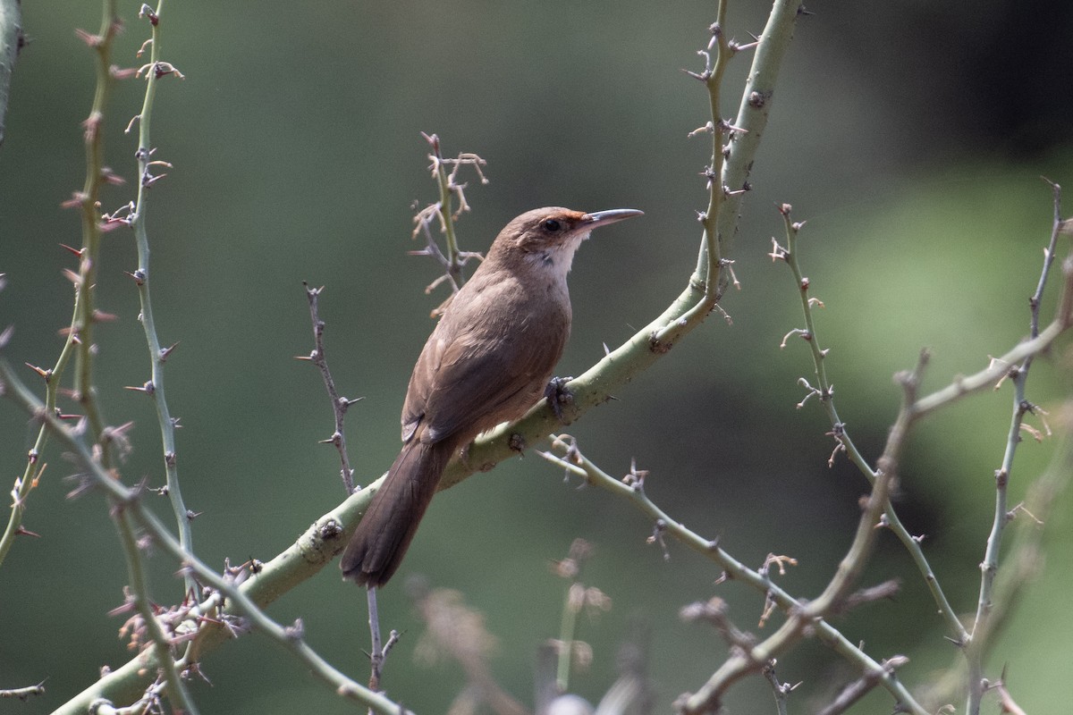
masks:
{"label": "blurred green and dark background behind the bird and thorny branches", "polygon": [[[804,344],[780,351],[800,324],[785,266],[766,256],[780,232],[775,203],[807,220],[802,245],[832,348],[828,370],[851,434],[874,458],[898,406],[891,375],[934,351],[927,387],[974,372],[1028,329],[1026,298],[1050,226],[1045,175],[1073,182],[1068,38],[1073,6],[1009,1],[971,9],[890,3],[817,3],[800,18],[774,114],[751,177],[754,191],[735,247],[740,293],[623,389],[619,400],[569,431],[587,456],[624,474],[635,457],[649,494],[702,535],[719,536],[759,566],[769,553],[800,564],[780,583],[819,593],[852,535],[864,480],[846,462],[826,464],[828,426],[815,405],[796,411],[797,377],[810,376]],[[137,65],[147,29],[124,2],[115,61]],[[769,5],[732,3],[729,32],[759,33]],[[95,31],[93,2],[26,3],[31,44],[16,66],[0,149],[0,326],[14,325],[9,359],[50,366],[70,316],[60,275],[73,266],[58,244],[78,244],[78,217],[59,208],[83,183],[79,122],[92,98],[90,54],[74,28]],[[696,69],[715,3],[620,2],[260,2],[168,3],[164,59],[186,80],[161,83],[156,157],[174,163],[152,190],[153,300],[161,340],[181,345],[167,363],[172,412],[181,417],[179,466],[199,554],[222,565],[267,560],[342,497],[317,371],[293,360],[311,347],[302,281],[326,286],[322,316],[337,384],[365,400],[348,428],[358,481],[386,468],[398,448],[407,379],[443,294],[437,273],[407,255],[415,206],[435,198],[421,131],[444,152],[473,151],[490,183],[470,181],[473,211],[458,224],[464,247],[484,250],[512,217],[543,205],[630,207],[646,215],[604,229],[572,274],[574,333],[560,374],[579,374],[672,300],[692,269],[705,204],[697,173],[707,139],[687,138],[707,120]],[[722,114],[737,106],[750,55],[727,74]],[[108,163],[131,179],[135,139],[122,133],[144,85],[121,83],[107,118]],[[465,176],[465,174],[464,174]],[[104,209],[133,198],[108,188]],[[1068,250],[1068,239],[1062,254]],[[131,236],[105,240],[98,296],[118,315],[97,333],[100,392],[114,423],[135,421],[123,475],[162,483],[149,401],[122,389],[148,374]],[[1054,295],[1047,306],[1053,306]],[[1047,315],[1045,309],[1044,314]],[[1056,407],[1070,393],[1069,340],[1040,360],[1030,399]],[[27,379],[33,375],[26,372]],[[898,504],[959,611],[975,608],[1011,409],[1009,389],[978,396],[914,433]],[[1034,422],[1039,426],[1039,422]],[[0,475],[21,473],[33,428],[0,403]],[[1056,446],[1023,444],[1011,504]],[[70,467],[55,449],[20,540],[0,569],[0,687],[47,677],[48,694],[5,712],[47,712],[130,653],[116,638],[126,569],[100,495],[64,498]],[[616,644],[637,616],[650,628],[659,710],[700,686],[724,657],[707,628],[678,609],[720,595],[738,625],[754,628],[762,605],[736,584],[714,585],[711,564],[677,543],[671,560],[645,538],[650,525],[629,505],[563,483],[535,456],[500,465],[439,495],[406,564],[381,597],[382,622],[406,631],[388,662],[391,696],[421,713],[444,712],[461,683],[450,664],[415,665],[422,626],[406,596],[408,575],[465,592],[500,641],[500,683],[531,702],[535,649],[557,635],[564,583],[548,569],[575,537],[597,547],[585,580],[614,609],[584,620],[596,660],[574,681],[598,699],[615,677]],[[1073,589],[1069,495],[1047,523],[1049,557],[1028,586],[990,661],[1009,664],[1010,687],[1029,712],[1055,711],[1073,674],[1073,622],[1056,605]],[[166,505],[160,505],[167,513]],[[181,589],[174,564],[153,560],[153,597]],[[955,659],[922,580],[884,534],[865,582],[901,578],[893,602],[836,622],[877,658],[912,660],[915,686]],[[302,617],[309,642],[364,679],[365,598],[334,566],[274,605]],[[763,632],[771,629],[768,626]],[[240,639],[204,664],[212,686],[194,686],[203,712],[342,712],[347,707],[264,639]],[[778,674],[805,684],[795,709],[829,698],[852,677],[817,643],[781,658]],[[760,679],[734,689],[733,712],[770,712]],[[798,704],[799,703],[799,704]],[[867,703],[870,703],[867,704]],[[877,694],[863,712],[886,712]],[[961,701],[956,701],[960,706]]]}

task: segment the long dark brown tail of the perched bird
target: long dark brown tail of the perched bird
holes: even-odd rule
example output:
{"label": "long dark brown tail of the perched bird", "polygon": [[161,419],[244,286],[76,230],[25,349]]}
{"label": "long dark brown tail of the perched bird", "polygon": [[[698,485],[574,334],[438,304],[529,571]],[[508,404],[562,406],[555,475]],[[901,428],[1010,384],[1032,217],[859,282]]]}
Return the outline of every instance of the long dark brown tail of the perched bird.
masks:
{"label": "long dark brown tail of the perched bird", "polygon": [[[450,442],[450,441],[447,441]],[[342,576],[381,586],[402,563],[454,448],[413,440],[402,447],[342,552]]]}

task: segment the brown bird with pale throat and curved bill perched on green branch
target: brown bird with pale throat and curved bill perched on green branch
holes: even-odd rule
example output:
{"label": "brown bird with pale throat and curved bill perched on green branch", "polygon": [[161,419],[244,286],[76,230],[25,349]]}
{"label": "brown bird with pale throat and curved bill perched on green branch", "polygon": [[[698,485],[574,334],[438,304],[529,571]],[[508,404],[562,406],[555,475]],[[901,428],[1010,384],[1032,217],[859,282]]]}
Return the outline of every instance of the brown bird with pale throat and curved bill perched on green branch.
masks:
{"label": "brown bird with pale throat and curved bill perched on green branch", "polygon": [[452,456],[545,394],[570,336],[574,252],[597,226],[641,214],[549,207],[499,233],[417,358],[402,405],[402,451],[343,551],[343,578],[386,583]]}

